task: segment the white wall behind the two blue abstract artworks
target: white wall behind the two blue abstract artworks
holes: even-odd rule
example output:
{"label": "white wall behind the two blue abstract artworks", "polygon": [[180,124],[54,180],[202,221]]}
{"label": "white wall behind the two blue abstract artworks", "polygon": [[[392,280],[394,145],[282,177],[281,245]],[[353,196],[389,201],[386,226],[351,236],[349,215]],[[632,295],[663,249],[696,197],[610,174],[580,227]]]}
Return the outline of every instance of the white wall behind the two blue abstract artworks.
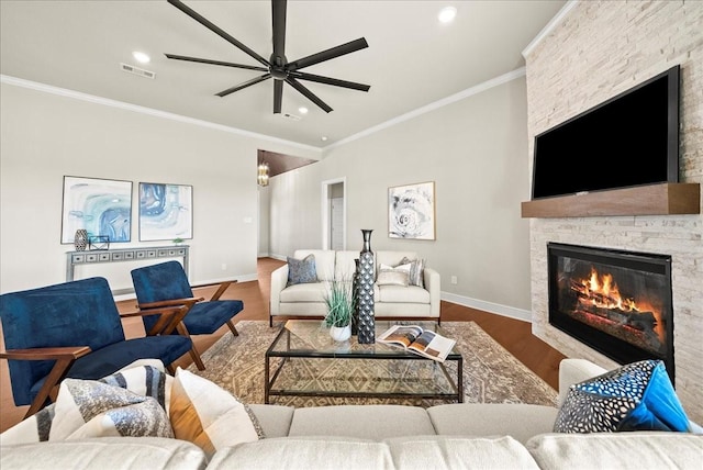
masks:
{"label": "white wall behind the two blue abstract artworks", "polygon": [[[133,182],[132,242],[114,248],[171,244],[138,242],[140,181],[192,184],[193,238],[186,240],[191,282],[256,279],[257,149],[309,150],[192,120],[1,87],[0,292],[65,280],[65,253],[74,247],[60,244],[64,176]],[[135,265],[96,265],[76,273],[104,276],[113,290],[129,289]]]}

